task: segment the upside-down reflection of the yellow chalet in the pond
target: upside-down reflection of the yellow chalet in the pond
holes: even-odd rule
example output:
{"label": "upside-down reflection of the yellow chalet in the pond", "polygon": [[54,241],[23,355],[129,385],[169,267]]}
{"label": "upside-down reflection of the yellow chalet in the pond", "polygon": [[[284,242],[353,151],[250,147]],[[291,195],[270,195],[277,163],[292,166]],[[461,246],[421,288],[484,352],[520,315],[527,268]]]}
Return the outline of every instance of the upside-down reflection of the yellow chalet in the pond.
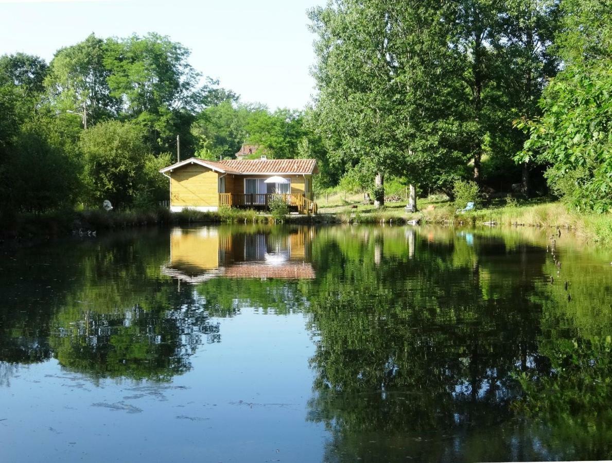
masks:
{"label": "upside-down reflection of the yellow chalet in the pond", "polygon": [[312,229],[282,234],[224,228],[175,228],[170,233],[170,262],[164,275],[187,283],[211,278],[312,279]]}

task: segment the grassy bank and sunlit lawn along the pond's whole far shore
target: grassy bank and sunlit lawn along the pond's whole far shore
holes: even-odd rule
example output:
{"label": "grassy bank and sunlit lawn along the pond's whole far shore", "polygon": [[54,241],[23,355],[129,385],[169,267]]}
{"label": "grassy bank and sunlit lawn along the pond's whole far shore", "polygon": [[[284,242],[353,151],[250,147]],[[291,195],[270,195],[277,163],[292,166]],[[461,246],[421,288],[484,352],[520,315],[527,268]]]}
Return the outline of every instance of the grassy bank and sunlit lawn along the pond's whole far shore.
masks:
{"label": "grassy bank and sunlit lawn along the pond's whole far shore", "polygon": [[[337,204],[338,199],[345,204]],[[579,213],[570,210],[561,202],[550,199],[531,201],[510,201],[496,199],[487,207],[466,213],[455,213],[456,208],[443,195],[431,195],[420,199],[419,212],[406,213],[405,202],[387,203],[376,209],[370,204],[360,204],[361,194],[337,194],[333,199],[328,196],[328,206],[319,202],[319,213],[315,216],[288,215],[288,223],[404,223],[419,219],[424,223],[482,224],[495,222],[499,225],[563,227],[570,228],[588,241],[612,245],[612,214]],[[349,201],[353,199],[353,202]],[[321,201],[317,198],[317,201]],[[351,207],[351,206],[356,207]],[[274,218],[255,210],[222,208],[218,212],[199,212],[185,209],[172,213],[164,207],[151,210],[83,210],[56,211],[44,214],[21,214],[11,220],[2,220],[0,236],[35,237],[69,234],[78,229],[106,230],[149,226],[154,224],[190,223],[272,223]]]}

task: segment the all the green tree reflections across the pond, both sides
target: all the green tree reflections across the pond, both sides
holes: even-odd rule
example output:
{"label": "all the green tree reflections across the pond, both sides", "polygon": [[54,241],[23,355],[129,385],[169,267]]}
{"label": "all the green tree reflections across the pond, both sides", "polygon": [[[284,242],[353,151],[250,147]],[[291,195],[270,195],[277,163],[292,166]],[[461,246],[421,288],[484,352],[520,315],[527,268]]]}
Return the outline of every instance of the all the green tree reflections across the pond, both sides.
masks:
{"label": "all the green tree reflections across the pond, both sides", "polygon": [[93,377],[167,380],[220,340],[211,316],[305,312],[317,343],[308,418],[332,432],[329,461],[611,457],[609,273],[582,275],[581,254],[564,256],[568,304],[546,283],[545,245],[417,233],[322,228],[315,280],[180,289],[160,273],[164,231],[23,251],[0,278],[0,382],[51,357]]}

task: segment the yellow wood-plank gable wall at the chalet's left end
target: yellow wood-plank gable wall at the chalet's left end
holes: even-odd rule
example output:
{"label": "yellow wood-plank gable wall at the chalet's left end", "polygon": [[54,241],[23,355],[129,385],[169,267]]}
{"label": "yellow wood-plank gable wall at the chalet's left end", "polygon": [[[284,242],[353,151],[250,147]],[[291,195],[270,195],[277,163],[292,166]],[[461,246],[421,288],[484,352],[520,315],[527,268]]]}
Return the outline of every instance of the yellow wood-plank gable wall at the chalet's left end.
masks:
{"label": "yellow wood-plank gable wall at the chalet's left end", "polygon": [[170,172],[170,206],[218,206],[218,174],[198,164]]}

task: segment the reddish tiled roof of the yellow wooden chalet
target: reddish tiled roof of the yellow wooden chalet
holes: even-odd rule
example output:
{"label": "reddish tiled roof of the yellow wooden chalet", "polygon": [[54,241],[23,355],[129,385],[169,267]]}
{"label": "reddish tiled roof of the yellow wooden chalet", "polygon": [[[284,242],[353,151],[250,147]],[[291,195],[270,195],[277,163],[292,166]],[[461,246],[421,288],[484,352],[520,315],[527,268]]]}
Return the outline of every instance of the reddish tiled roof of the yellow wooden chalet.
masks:
{"label": "reddish tiled roof of the yellow wooden chalet", "polygon": [[228,159],[223,161],[206,161],[189,158],[160,172],[165,173],[188,164],[199,164],[222,174],[317,174],[316,159]]}

